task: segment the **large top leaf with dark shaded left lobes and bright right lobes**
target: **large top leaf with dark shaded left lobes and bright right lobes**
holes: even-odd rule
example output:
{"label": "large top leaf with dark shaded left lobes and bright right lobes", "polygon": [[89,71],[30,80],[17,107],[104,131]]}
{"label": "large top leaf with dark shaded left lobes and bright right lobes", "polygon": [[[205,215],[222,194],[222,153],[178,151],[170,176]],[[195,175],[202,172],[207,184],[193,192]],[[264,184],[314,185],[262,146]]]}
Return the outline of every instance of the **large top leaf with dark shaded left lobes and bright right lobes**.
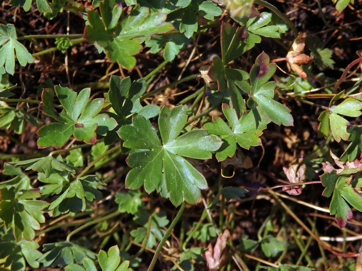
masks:
{"label": "large top leaf with dark shaded left lobes and bright right lobes", "polygon": [[88,12],[88,25],[84,38],[104,48],[111,62],[117,62],[126,69],[136,64],[133,55],[142,49],[140,36],[152,36],[173,30],[172,23],[165,22],[165,13],[152,13],[146,7],[136,5],[129,16],[115,0],[100,2],[101,16],[96,10]]}

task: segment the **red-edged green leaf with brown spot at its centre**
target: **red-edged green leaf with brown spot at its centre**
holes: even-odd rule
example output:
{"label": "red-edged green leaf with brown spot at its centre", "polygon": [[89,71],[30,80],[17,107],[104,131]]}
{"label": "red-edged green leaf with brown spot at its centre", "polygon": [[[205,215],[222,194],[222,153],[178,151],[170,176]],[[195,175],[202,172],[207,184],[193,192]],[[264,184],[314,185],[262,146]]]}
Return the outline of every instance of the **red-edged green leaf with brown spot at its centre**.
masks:
{"label": "red-edged green leaf with brown spot at its centre", "polygon": [[[39,148],[53,144],[62,147],[72,135],[85,143],[94,144],[96,133],[104,136],[117,126],[117,122],[107,114],[98,114],[102,110],[104,99],[89,100],[89,88],[77,94],[68,87],[55,86],[55,93],[63,111],[59,114],[55,111],[52,103],[54,91],[44,89],[39,109],[59,122],[47,124],[38,130]],[[57,136],[54,137],[54,134]]]}

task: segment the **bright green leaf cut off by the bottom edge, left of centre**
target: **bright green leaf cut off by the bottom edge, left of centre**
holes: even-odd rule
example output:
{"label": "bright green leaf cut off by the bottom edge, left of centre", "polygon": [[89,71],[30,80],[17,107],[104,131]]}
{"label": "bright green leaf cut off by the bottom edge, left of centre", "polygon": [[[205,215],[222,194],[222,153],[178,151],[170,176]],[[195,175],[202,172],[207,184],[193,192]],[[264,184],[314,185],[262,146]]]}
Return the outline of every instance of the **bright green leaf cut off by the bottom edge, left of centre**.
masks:
{"label": "bright green leaf cut off by the bottom edge, left of centre", "polygon": [[[98,263],[102,271],[132,271],[128,268],[129,261],[121,263],[118,246],[112,246],[108,252],[100,250],[98,253]],[[94,262],[89,258],[83,258],[83,266],[78,264],[67,265],[65,271],[97,271]]]}

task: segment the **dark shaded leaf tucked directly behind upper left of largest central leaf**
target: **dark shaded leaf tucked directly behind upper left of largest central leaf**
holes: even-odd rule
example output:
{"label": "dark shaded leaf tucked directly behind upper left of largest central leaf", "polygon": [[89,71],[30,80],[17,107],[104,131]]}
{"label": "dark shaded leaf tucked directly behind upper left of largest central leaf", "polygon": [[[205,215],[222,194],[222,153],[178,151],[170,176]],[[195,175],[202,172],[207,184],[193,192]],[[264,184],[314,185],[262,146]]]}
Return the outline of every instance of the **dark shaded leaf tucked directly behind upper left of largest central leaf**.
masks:
{"label": "dark shaded leaf tucked directly behind upper left of largest central leaf", "polygon": [[132,123],[132,115],[141,115],[146,119],[155,117],[160,112],[160,108],[155,104],[148,104],[143,107],[139,98],[146,92],[147,83],[144,78],[131,83],[130,77],[122,80],[118,76],[111,75],[109,79],[108,97],[115,112],[109,113],[118,123],[115,129],[109,131],[104,139],[105,145],[114,142],[118,137],[117,130],[126,124]]}

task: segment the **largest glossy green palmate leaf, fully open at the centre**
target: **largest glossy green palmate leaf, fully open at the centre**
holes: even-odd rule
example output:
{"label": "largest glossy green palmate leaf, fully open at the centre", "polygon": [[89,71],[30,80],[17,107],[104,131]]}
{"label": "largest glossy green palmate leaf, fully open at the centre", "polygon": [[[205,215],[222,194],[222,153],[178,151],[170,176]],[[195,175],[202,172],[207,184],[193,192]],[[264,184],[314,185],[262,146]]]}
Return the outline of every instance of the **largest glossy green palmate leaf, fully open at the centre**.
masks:
{"label": "largest glossy green palmate leaf, fully open at the centre", "polygon": [[[147,193],[151,193],[160,184],[164,174],[167,192],[171,202],[178,206],[182,198],[195,204],[200,198],[200,190],[206,189],[205,177],[186,159],[211,158],[222,141],[206,130],[193,130],[179,136],[187,120],[185,108],[163,107],[159,115],[159,129],[163,144],[149,120],[143,116],[134,116],[133,126],[122,126],[119,137],[129,149],[127,164],[132,168],[126,177],[126,187],[138,189],[144,184]],[[163,173],[162,173],[163,172]]]}

